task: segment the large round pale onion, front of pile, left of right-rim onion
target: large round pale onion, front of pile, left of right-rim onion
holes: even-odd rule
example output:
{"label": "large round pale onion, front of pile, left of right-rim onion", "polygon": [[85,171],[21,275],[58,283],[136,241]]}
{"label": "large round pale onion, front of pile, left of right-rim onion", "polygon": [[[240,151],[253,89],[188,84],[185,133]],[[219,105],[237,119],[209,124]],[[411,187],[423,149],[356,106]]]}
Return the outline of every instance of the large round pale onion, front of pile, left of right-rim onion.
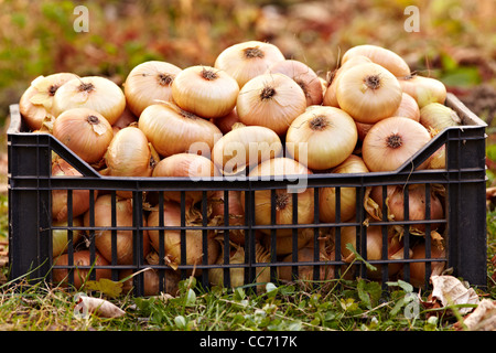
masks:
{"label": "large round pale onion, front of pile, left of right-rim onion", "polygon": [[348,158],[357,138],[355,121],[347,113],[320,106],[291,122],[285,142],[289,153],[300,163],[311,170],[325,170]]}

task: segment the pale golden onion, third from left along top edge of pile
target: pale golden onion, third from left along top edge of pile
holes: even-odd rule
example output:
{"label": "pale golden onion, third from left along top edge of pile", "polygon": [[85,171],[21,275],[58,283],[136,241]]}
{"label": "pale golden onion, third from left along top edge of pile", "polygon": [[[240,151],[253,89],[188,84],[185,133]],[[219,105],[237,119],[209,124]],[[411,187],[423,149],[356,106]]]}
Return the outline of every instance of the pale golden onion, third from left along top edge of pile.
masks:
{"label": "pale golden onion, third from left along top edge of pile", "polygon": [[171,101],[171,85],[181,68],[162,61],[147,61],[134,66],[126,78],[123,88],[127,107],[140,116],[158,100]]}

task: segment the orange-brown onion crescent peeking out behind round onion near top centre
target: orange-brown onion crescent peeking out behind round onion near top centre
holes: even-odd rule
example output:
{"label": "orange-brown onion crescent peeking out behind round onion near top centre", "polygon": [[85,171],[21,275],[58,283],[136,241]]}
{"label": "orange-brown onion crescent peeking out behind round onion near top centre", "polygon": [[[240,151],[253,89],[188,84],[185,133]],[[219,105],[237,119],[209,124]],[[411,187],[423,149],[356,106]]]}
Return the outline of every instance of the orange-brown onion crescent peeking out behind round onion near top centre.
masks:
{"label": "orange-brown onion crescent peeking out behind round onion near top centre", "polygon": [[301,89],[303,89],[308,106],[322,104],[323,92],[321,81],[317,74],[305,63],[296,60],[284,60],[273,63],[266,73],[284,74],[294,79]]}

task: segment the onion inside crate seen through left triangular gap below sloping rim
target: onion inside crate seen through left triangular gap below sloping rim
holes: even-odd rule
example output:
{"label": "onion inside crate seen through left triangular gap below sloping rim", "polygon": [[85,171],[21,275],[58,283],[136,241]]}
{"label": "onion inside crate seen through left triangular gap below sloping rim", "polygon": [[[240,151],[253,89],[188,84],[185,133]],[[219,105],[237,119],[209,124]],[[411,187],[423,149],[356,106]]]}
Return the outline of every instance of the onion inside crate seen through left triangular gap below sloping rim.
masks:
{"label": "onion inside crate seen through left triangular gap below sloping rim", "polygon": [[[55,159],[52,162],[52,176],[83,176],[77,169],[67,163],[63,159]],[[98,191],[94,191],[96,199]],[[89,208],[89,190],[75,189],[72,191],[73,196],[73,217],[83,215]],[[52,218],[57,222],[67,221],[67,190],[52,190]]]}

